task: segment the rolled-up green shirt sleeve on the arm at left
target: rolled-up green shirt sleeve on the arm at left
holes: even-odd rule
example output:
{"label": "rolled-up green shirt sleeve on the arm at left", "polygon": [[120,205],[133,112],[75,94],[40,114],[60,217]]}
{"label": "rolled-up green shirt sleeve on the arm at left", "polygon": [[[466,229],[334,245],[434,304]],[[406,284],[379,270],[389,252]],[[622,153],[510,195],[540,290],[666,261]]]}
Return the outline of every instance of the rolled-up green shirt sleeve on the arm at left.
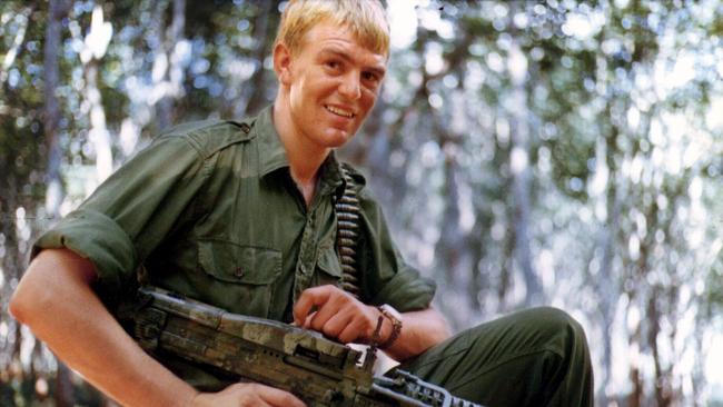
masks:
{"label": "rolled-up green shirt sleeve on the arm at left", "polygon": [[115,301],[188,209],[208,166],[188,138],[160,137],[40,236],[31,257],[42,249],[67,248],[91,260],[97,292],[103,301]]}

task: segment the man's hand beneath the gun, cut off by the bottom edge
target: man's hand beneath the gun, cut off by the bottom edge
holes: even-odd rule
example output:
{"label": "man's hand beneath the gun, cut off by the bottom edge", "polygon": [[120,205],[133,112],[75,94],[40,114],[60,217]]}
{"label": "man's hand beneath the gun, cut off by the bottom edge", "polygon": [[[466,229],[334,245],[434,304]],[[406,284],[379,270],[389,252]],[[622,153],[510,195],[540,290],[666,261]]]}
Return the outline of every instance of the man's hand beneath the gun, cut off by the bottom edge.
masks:
{"label": "man's hand beneath the gun, cut off by the bottom edge", "polygon": [[237,383],[219,393],[199,393],[191,400],[192,407],[214,406],[271,406],[305,407],[306,405],[288,391],[256,383]]}

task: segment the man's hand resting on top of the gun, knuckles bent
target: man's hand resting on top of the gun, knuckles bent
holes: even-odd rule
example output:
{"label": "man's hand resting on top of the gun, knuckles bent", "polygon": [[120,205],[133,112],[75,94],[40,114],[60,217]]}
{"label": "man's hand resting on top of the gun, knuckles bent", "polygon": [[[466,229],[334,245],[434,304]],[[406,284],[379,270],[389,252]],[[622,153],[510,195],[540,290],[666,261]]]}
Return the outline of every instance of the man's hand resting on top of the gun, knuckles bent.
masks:
{"label": "man's hand resting on top of the gun, knuckles bent", "polygon": [[[315,307],[316,311],[313,311]],[[294,305],[294,325],[323,332],[341,344],[369,343],[380,315],[375,307],[364,305],[330,285],[304,290]],[[384,334],[383,329],[382,338],[385,338]]]}

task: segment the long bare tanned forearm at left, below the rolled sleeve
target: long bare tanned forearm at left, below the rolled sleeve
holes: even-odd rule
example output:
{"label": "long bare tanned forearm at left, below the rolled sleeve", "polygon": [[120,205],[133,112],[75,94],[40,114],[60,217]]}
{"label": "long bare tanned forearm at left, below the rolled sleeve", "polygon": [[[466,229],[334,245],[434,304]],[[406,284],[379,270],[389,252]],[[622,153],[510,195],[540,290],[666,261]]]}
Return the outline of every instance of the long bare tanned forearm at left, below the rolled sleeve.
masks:
{"label": "long bare tanned forearm at left, below the rolled sleeve", "polygon": [[88,260],[67,250],[44,250],[18,286],[11,311],[120,404],[189,405],[196,390],[136,345],[90,289],[89,276],[95,271]]}

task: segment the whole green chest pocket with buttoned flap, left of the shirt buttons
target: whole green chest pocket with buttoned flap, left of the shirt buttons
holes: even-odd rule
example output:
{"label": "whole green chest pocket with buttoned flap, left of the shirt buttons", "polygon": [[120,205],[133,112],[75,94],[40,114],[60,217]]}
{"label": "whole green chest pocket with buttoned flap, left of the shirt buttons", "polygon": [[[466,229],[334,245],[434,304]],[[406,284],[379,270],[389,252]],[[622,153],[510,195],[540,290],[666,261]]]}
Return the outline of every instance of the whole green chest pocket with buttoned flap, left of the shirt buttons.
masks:
{"label": "whole green chest pocket with buttoned flap, left of the shirt buttons", "polygon": [[[199,240],[197,289],[231,312],[266,318],[281,275],[281,251],[220,239]],[[199,281],[201,282],[201,281]]]}

